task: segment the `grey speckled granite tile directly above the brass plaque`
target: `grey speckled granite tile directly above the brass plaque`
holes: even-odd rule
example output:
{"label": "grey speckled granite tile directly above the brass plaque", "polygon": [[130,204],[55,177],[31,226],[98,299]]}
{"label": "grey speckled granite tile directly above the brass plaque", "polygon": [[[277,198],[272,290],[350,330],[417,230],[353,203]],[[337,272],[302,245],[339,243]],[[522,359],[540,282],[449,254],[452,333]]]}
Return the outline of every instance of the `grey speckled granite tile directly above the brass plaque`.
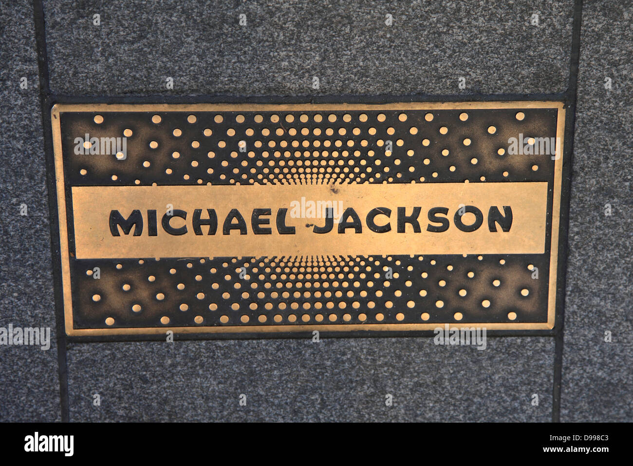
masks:
{"label": "grey speckled granite tile directly above the brass plaque", "polygon": [[[567,89],[572,0],[44,3],[51,89],[58,93],[467,95]],[[537,26],[530,24],[534,13]],[[174,80],[173,91],[166,89],[167,77]],[[313,77],[320,80],[318,90]],[[466,89],[458,87],[460,77]]]}

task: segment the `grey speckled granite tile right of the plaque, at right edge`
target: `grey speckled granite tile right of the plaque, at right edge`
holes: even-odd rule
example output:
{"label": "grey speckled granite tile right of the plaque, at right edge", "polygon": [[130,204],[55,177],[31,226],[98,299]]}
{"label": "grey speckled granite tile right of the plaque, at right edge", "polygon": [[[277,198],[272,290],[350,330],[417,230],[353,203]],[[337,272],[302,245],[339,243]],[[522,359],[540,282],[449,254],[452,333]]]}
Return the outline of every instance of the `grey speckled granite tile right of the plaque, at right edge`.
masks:
{"label": "grey speckled granite tile right of the plaque, at right edge", "polygon": [[631,422],[633,6],[588,2],[582,16],[561,420]]}

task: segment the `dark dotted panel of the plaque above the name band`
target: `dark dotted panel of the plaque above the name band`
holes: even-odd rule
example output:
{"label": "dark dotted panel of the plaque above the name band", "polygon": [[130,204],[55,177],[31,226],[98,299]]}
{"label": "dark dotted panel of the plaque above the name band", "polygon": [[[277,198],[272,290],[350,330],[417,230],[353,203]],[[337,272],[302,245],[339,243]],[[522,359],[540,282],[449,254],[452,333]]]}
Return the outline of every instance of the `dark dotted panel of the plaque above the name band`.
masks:
{"label": "dark dotted panel of the plaque above the name band", "polygon": [[460,113],[163,112],[155,123],[152,112],[104,112],[100,124],[73,113],[61,122],[64,153],[77,135],[130,136],[125,159],[70,157],[65,177],[72,186],[549,181],[551,157],[508,155],[508,139],[552,138],[556,109],[522,120],[513,109]]}

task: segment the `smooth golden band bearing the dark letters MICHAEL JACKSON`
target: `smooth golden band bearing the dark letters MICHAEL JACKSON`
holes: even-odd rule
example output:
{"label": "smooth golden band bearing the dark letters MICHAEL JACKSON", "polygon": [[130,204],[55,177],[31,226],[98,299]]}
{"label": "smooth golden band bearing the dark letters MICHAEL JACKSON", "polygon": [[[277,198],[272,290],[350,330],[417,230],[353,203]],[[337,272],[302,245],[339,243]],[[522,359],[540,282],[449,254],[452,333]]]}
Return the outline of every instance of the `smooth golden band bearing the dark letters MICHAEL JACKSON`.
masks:
{"label": "smooth golden band bearing the dark letters MICHAEL JACKSON", "polygon": [[75,186],[77,259],[541,254],[547,183]]}

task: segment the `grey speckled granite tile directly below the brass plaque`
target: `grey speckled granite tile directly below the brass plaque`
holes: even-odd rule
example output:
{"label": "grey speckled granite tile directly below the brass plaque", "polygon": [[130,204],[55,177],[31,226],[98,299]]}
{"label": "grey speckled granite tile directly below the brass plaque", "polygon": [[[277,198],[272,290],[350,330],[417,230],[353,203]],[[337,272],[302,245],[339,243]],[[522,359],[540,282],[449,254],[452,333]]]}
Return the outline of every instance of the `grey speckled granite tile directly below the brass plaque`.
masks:
{"label": "grey speckled granite tile directly below the brass plaque", "polygon": [[551,420],[553,339],[487,343],[484,351],[413,338],[75,344],[71,420]]}

